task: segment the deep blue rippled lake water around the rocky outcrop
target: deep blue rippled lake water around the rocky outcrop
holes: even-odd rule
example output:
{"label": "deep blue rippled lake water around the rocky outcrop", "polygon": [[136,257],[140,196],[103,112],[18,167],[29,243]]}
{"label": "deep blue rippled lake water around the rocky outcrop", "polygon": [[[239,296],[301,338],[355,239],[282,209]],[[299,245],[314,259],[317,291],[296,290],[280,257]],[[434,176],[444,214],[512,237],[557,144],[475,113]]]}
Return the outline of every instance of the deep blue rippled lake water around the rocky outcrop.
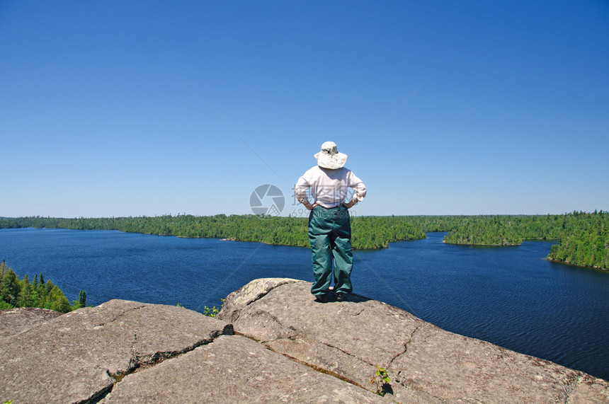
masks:
{"label": "deep blue rippled lake water around the rocky outcrop", "polygon": [[[443,236],[355,251],[354,292],[609,379],[609,272],[549,262],[548,242],[477,248]],[[129,299],[203,311],[252,279],[312,281],[307,248],[120,231],[1,229],[2,259],[20,277],[44,272],[70,301],[84,289],[93,305]]]}

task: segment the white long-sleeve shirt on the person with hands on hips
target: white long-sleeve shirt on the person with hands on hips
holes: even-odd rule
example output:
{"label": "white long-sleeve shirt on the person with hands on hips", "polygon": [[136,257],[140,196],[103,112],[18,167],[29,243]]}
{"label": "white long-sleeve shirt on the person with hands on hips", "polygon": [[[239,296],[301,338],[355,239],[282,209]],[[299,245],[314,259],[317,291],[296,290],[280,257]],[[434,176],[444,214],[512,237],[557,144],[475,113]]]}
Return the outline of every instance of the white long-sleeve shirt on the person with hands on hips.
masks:
{"label": "white long-sleeve shirt on the person with hands on hips", "polygon": [[347,189],[353,188],[355,195],[353,200],[362,201],[366,196],[366,186],[353,171],[342,167],[336,170],[314,166],[307,170],[302,177],[298,178],[295,186],[296,200],[305,205],[307,200],[307,189],[311,188],[314,202],[322,207],[332,208],[345,202]]}

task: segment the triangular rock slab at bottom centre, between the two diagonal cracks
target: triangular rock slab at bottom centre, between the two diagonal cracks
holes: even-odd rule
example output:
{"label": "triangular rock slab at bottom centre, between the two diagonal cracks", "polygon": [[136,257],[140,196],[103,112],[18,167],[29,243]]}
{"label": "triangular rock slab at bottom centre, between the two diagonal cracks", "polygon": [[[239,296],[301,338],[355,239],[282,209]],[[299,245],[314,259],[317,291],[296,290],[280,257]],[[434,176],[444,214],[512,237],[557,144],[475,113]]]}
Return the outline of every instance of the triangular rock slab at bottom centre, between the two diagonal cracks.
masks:
{"label": "triangular rock slab at bottom centre, between the two diagonal cracks", "polygon": [[212,344],[129,375],[108,403],[381,403],[363,388],[315,371],[246,337]]}

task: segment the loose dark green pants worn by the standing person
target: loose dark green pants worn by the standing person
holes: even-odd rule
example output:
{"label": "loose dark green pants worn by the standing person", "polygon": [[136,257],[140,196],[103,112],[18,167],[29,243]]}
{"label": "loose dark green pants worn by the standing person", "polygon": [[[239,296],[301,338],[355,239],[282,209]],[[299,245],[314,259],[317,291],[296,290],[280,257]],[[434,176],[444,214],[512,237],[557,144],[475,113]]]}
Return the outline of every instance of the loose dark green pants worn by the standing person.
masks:
{"label": "loose dark green pants worn by the standing person", "polygon": [[331,209],[314,207],[309,214],[309,241],[315,277],[311,293],[329,292],[332,275],[335,292],[351,292],[353,253],[348,209],[343,205]]}

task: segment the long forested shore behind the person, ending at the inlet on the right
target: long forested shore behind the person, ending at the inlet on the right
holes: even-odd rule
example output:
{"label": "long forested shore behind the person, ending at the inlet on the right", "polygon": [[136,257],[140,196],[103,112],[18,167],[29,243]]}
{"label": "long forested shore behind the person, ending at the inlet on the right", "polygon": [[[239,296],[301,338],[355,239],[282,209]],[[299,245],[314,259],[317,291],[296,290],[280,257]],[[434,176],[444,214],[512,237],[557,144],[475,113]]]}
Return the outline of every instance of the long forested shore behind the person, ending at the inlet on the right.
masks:
{"label": "long forested shore behind the person, ending at the inlet on the right", "polygon": [[[426,231],[448,230],[448,226],[423,226],[429,219],[416,217],[354,217],[353,248],[386,248],[388,243],[425,238]],[[421,217],[422,218],[422,217]],[[416,222],[415,222],[416,221]],[[119,230],[159,236],[226,238],[258,241],[282,246],[308,247],[307,219],[217,214],[215,216],[106,217],[62,219],[19,217],[0,219],[1,228]]]}

